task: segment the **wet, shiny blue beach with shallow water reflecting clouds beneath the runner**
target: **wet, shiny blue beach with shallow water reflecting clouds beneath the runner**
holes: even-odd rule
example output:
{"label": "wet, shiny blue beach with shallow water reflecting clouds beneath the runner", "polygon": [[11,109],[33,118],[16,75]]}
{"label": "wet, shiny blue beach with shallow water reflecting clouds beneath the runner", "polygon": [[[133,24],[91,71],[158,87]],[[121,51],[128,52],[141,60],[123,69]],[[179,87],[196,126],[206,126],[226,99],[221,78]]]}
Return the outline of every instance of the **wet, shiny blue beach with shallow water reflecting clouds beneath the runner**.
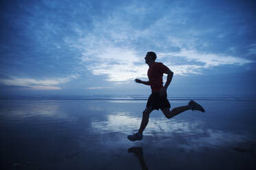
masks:
{"label": "wet, shiny blue beach with shallow water reflecting clouds beneath the runner", "polygon": [[145,99],[1,100],[1,162],[4,169],[255,169],[255,101],[198,103],[205,113],[166,119],[155,110],[143,141],[130,142]]}

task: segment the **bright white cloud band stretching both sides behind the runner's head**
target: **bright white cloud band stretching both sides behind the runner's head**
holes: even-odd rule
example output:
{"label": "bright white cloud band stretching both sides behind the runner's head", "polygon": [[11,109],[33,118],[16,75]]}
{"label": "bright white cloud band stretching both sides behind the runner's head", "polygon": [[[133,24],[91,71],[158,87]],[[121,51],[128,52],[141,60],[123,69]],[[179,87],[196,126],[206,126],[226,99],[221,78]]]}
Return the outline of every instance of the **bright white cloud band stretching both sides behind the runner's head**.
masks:
{"label": "bright white cloud band stretching both sides behind the runner's head", "polygon": [[[93,38],[94,39],[94,38]],[[94,42],[90,44],[93,45]],[[178,43],[178,42],[176,42]],[[137,51],[128,47],[115,47],[104,42],[85,49],[82,61],[94,75],[106,75],[108,81],[120,82],[134,80],[136,77],[147,77],[148,66]],[[88,47],[88,46],[86,46]],[[97,48],[95,48],[97,47]],[[87,50],[87,51],[86,51]],[[159,52],[159,60],[174,71],[175,75],[202,74],[202,69],[213,66],[233,64],[242,66],[253,61],[234,56],[196,51],[196,49],[181,49],[174,52]],[[94,60],[90,59],[94,58]],[[172,58],[183,59],[183,64],[177,64]],[[95,61],[97,60],[97,61]],[[88,62],[92,62],[88,64]],[[191,64],[197,62],[196,64]],[[139,64],[138,64],[139,63]]]}

